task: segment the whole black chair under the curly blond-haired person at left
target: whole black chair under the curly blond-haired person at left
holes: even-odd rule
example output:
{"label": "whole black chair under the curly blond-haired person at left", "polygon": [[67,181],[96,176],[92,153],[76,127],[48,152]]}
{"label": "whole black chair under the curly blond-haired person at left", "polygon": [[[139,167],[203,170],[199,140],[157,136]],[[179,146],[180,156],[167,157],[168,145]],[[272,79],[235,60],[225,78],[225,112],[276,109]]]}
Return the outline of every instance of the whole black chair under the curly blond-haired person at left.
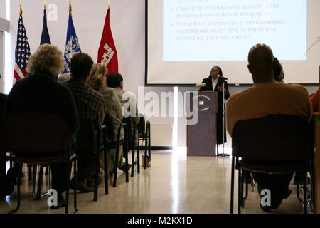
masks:
{"label": "whole black chair under the curly blond-haired person at left", "polygon": [[[47,113],[16,112],[8,113],[4,118],[3,138],[1,138],[1,154],[5,160],[15,162],[18,169],[23,163],[32,165],[68,164],[68,183],[66,192],[65,213],[68,214],[70,164],[77,166],[77,155],[71,155],[72,139],[68,123],[58,115]],[[10,156],[6,153],[10,152]],[[17,172],[18,204],[20,207],[20,172]],[[77,193],[74,195],[75,213],[77,209]]]}

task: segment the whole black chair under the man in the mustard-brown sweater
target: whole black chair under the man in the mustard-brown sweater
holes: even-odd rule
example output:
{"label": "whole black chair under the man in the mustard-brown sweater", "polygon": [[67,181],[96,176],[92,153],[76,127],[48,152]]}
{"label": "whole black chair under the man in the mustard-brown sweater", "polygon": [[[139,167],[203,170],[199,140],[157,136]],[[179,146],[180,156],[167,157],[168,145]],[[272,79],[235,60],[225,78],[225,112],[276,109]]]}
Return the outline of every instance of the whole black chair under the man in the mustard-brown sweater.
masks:
{"label": "whole black chair under the man in the mustard-brown sweater", "polygon": [[[238,213],[243,207],[242,170],[262,173],[303,172],[314,160],[306,120],[297,115],[268,115],[239,121],[233,128],[230,213],[233,213],[235,165],[238,168]],[[239,158],[242,160],[239,160]],[[236,164],[235,164],[236,158]],[[306,187],[306,179],[304,180]],[[304,213],[307,213],[304,192]]]}

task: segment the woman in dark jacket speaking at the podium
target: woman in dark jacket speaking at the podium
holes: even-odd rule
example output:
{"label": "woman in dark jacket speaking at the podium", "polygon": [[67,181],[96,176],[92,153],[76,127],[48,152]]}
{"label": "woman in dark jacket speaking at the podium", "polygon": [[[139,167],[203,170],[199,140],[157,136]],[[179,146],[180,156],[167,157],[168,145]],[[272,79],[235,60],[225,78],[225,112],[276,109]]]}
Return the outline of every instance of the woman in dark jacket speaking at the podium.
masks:
{"label": "woman in dark jacket speaking at the podium", "polygon": [[[218,92],[218,113],[217,113],[217,145],[223,143],[223,81],[225,82],[224,92],[225,92],[225,100],[228,100],[230,97],[228,83],[222,77],[223,72],[220,67],[213,66],[210,71],[210,75],[208,78],[203,78],[202,83],[206,83],[206,86],[201,88],[201,91],[215,91]],[[225,123],[224,123],[225,126]],[[225,128],[225,127],[224,127]],[[224,130],[224,142],[227,142],[226,137],[226,128]]]}

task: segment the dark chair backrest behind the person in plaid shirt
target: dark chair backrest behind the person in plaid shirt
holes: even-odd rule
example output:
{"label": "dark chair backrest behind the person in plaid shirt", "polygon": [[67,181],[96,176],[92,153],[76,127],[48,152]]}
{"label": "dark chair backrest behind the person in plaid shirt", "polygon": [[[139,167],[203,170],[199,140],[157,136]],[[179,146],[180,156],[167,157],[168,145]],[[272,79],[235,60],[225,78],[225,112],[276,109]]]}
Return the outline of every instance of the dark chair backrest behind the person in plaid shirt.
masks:
{"label": "dark chair backrest behind the person in plaid shirt", "polygon": [[95,150],[95,120],[79,120],[75,151],[90,152],[93,150]]}

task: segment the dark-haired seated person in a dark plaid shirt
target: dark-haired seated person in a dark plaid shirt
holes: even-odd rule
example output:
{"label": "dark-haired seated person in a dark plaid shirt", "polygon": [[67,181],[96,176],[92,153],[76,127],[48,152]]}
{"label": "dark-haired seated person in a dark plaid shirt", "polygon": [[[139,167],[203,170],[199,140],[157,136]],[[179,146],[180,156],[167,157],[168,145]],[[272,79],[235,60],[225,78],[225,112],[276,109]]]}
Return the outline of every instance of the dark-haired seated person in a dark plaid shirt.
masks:
{"label": "dark-haired seated person in a dark plaid shirt", "polygon": [[[93,61],[86,53],[76,53],[71,58],[70,71],[71,78],[64,84],[68,86],[75,99],[75,105],[78,110],[79,120],[98,120],[100,127],[105,118],[105,102],[100,93],[87,85],[87,78],[90,75]],[[94,190],[92,184],[92,175],[95,170],[94,157],[82,157],[78,152],[78,180],[77,188],[81,192],[92,192]],[[74,180],[72,180],[72,183]],[[102,177],[99,178],[102,182]]]}

